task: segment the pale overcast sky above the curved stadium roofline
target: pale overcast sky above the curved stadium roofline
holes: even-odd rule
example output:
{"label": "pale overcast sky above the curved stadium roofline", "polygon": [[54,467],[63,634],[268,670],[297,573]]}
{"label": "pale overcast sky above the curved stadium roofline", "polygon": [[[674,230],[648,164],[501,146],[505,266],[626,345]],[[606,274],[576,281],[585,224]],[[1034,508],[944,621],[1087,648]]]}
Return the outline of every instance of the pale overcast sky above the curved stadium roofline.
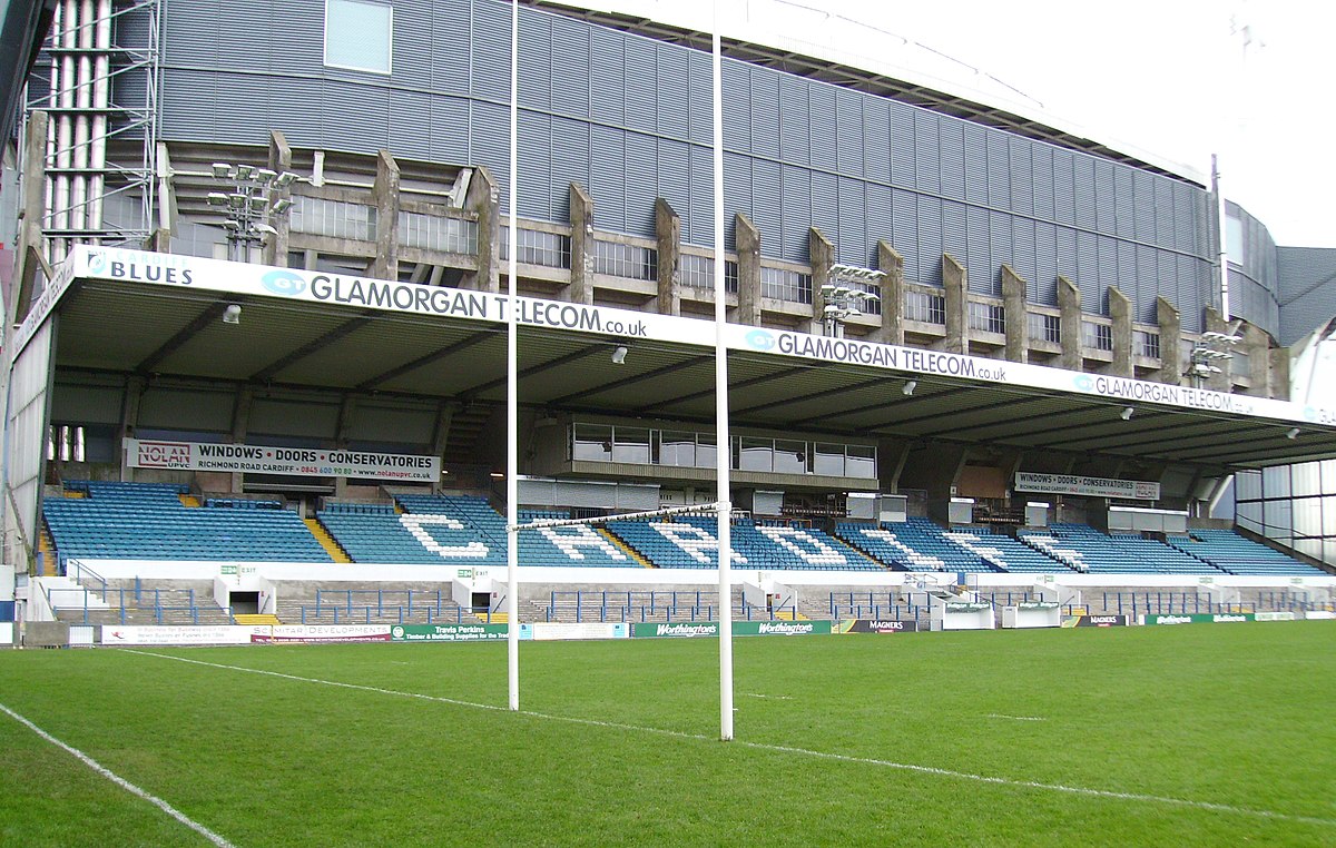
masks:
{"label": "pale overcast sky above the curved stadium roofline", "polygon": [[[655,17],[692,15],[699,28],[712,25],[709,0],[643,5]],[[1225,195],[1279,244],[1336,247],[1329,163],[1336,3],[1329,0],[719,0],[719,7],[725,32],[731,21],[756,40],[779,32],[918,68],[1201,175],[1218,154]]]}

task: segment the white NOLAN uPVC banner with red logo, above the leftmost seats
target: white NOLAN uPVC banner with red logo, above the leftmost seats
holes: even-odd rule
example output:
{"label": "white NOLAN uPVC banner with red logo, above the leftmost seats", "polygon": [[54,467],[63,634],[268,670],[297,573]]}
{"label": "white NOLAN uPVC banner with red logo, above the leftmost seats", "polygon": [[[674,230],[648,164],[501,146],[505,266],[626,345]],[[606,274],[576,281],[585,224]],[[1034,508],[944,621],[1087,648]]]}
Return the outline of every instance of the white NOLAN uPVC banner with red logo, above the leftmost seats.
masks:
{"label": "white NOLAN uPVC banner with red logo, above the leftmost seats", "polygon": [[124,439],[126,465],[135,469],[191,471],[246,471],[303,477],[366,477],[401,482],[441,479],[441,458],[378,454],[363,450],[273,447],[265,445],[210,445]]}

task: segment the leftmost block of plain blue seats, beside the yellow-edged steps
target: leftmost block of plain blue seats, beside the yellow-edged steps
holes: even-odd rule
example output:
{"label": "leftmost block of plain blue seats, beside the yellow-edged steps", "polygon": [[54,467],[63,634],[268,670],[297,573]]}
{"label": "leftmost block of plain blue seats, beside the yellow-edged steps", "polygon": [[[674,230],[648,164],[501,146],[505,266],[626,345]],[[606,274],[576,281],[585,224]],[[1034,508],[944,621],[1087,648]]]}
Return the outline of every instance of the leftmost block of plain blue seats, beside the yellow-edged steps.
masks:
{"label": "leftmost block of plain blue seats, beside the yellow-edged steps", "polygon": [[[67,481],[75,497],[48,497],[43,517],[61,562],[90,560],[240,560],[329,562],[302,519],[278,501],[182,502],[175,483]],[[244,507],[236,503],[244,502]]]}

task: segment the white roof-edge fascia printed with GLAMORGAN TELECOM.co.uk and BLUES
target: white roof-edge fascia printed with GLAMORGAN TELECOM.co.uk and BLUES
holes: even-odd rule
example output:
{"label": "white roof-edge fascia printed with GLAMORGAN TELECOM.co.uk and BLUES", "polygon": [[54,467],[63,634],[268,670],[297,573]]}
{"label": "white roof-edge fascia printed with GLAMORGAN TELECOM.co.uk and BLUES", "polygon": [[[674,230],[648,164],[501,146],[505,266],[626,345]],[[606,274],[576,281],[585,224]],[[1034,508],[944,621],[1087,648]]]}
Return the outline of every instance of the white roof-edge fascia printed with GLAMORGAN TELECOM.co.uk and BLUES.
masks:
{"label": "white roof-edge fascia printed with GLAMORGAN TELECOM.co.uk and BLUES", "polygon": [[[508,322],[512,306],[506,295],[496,292],[81,244],[71,251],[56,279],[15,334],[16,354],[79,279],[190,287],[251,298],[335,303],[358,310],[434,315],[492,325]],[[517,298],[514,319],[526,327],[552,327],[628,342],[653,339],[709,347],[716,338],[715,326],[708,321],[538,298]],[[939,375],[1096,395],[1120,402],[1212,410],[1295,423],[1336,425],[1336,410],[1332,409],[1188,386],[739,325],[727,325],[724,337],[724,343],[731,350],[858,365],[896,374]]]}

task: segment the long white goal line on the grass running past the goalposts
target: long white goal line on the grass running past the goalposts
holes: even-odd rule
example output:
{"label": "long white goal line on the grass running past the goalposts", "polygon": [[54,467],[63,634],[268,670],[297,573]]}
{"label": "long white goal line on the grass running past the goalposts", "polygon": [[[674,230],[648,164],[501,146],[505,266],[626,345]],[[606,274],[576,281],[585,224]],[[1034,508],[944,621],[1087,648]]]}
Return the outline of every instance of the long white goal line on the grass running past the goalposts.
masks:
{"label": "long white goal line on the grass running past the goalposts", "polygon": [[[266,669],[253,669],[243,665],[226,665],[223,662],[204,662],[203,660],[191,660],[188,657],[174,657],[171,654],[154,653],[151,650],[134,650],[130,648],[122,648],[126,653],[136,653],[146,657],[158,657],[162,660],[175,660],[178,662],[188,662],[192,665],[204,665],[210,668],[227,669],[231,672],[247,672],[251,674],[266,674],[269,677],[279,677],[283,680],[293,680],[297,682],[319,684],[322,686],[335,686],[339,689],[358,689],[362,692],[375,692],[378,694],[393,694],[403,698],[415,698],[420,701],[436,701],[440,704],[452,704],[454,706],[470,706],[473,709],[486,709],[490,712],[512,712],[506,706],[500,706],[497,704],[478,704],[476,701],[461,701],[458,698],[448,698],[437,694],[422,694],[418,692],[401,692],[397,689],[382,689],[379,686],[366,686],[362,684],[346,684],[337,680],[321,680],[319,677],[299,677],[297,674],[286,674],[283,672],[270,672]],[[530,718],[542,718],[546,721],[564,721],[566,724],[578,724],[592,728],[608,728],[615,730],[632,730],[636,733],[653,733],[656,736],[667,736],[671,738],[684,738],[701,743],[719,741],[715,736],[705,736],[704,733],[687,733],[685,730],[668,730],[664,728],[651,728],[637,724],[624,724],[620,721],[601,721],[599,718],[580,718],[576,716],[554,716],[550,713],[537,713],[528,709],[516,710],[518,716],[528,716]],[[1255,819],[1267,819],[1272,821],[1295,821],[1299,824],[1313,824],[1320,827],[1336,827],[1336,819],[1323,819],[1319,816],[1296,816],[1293,813],[1281,813],[1273,809],[1256,809],[1250,807],[1234,807],[1233,804],[1218,804],[1216,801],[1194,801],[1192,799],[1176,799],[1165,795],[1144,795],[1140,792],[1116,792],[1113,789],[1092,789],[1089,787],[1069,787],[1066,784],[1055,783],[1042,783],[1038,780],[1015,780],[1011,777],[993,777],[989,775],[975,775],[971,772],[958,772],[949,768],[937,768],[933,765],[915,765],[912,763],[896,763],[894,760],[878,760],[875,757],[859,757],[847,753],[831,753],[827,751],[812,751],[810,748],[794,748],[791,745],[775,745],[771,743],[747,743],[740,740],[732,740],[731,745],[739,745],[741,748],[751,748],[754,751],[768,751],[771,753],[787,753],[803,757],[815,757],[818,760],[832,760],[835,763],[854,763],[859,765],[876,765],[880,768],[890,768],[902,772],[914,772],[918,775],[935,775],[938,777],[955,777],[958,780],[973,780],[975,783],[991,784],[995,787],[1010,787],[1014,789],[1043,789],[1047,792],[1062,792],[1066,795],[1081,795],[1085,797],[1097,799],[1110,799],[1116,801],[1140,801],[1145,804],[1164,804],[1168,807],[1185,807],[1189,809],[1204,809],[1217,813],[1232,813],[1236,816],[1252,816]]]}

